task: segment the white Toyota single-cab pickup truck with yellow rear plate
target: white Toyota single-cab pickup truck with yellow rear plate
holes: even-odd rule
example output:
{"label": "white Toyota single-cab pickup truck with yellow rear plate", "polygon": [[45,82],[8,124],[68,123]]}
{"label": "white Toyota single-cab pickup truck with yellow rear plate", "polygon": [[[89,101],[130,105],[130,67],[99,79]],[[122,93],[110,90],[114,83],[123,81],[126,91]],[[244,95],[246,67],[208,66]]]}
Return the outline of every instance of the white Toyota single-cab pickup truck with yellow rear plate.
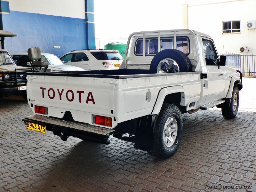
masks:
{"label": "white Toyota single-cab pickup truck with yellow rear plate", "polygon": [[181,114],[217,106],[225,118],[236,117],[242,75],[225,66],[210,36],[143,31],[127,45],[118,70],[28,73],[35,115],[23,119],[27,128],[104,144],[113,134],[168,158],[180,145]]}

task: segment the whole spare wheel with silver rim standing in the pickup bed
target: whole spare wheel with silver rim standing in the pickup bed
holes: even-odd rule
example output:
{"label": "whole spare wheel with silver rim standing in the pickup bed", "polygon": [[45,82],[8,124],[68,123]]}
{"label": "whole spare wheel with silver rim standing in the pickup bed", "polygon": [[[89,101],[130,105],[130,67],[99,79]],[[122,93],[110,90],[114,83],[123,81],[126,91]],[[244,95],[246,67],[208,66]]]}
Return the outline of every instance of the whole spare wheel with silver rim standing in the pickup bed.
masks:
{"label": "whole spare wheel with silver rim standing in the pickup bed", "polygon": [[188,56],[177,49],[165,49],[155,55],[150,63],[150,73],[178,73],[192,71]]}

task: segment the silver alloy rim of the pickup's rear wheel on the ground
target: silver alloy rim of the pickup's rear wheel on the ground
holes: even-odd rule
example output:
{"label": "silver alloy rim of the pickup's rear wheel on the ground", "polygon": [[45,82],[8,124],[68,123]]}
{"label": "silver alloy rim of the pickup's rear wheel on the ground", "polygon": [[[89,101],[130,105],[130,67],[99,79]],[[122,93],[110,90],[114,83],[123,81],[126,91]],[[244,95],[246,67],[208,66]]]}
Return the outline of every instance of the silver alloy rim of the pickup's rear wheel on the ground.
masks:
{"label": "silver alloy rim of the pickup's rear wheel on the ground", "polygon": [[166,147],[171,147],[173,145],[177,137],[177,131],[177,121],[171,116],[164,124],[163,140]]}

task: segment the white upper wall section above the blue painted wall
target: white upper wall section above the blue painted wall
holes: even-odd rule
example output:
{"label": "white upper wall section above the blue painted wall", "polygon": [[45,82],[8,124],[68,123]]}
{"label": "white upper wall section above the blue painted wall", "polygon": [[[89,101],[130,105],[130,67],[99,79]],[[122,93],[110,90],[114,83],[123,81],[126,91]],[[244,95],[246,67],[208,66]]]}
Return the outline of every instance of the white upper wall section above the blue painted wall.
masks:
{"label": "white upper wall section above the blue painted wall", "polygon": [[85,19],[84,0],[9,0],[10,11]]}

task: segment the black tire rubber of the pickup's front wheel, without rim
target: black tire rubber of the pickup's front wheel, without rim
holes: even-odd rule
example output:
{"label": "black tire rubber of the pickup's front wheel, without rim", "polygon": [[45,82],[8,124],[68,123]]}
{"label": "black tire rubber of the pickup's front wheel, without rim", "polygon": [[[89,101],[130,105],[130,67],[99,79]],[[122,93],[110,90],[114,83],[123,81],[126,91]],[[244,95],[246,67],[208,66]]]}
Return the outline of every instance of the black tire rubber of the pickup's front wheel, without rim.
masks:
{"label": "black tire rubber of the pickup's front wheel, without rim", "polygon": [[[237,95],[237,105],[236,105],[236,110],[233,110],[233,102],[234,102],[234,95]],[[225,104],[222,108],[221,108],[221,113],[222,116],[226,119],[233,119],[236,117],[237,111],[238,111],[238,106],[239,106],[239,91],[238,91],[238,87],[234,86],[233,92],[232,92],[232,97],[230,100],[230,105],[228,106],[228,104]]]}

